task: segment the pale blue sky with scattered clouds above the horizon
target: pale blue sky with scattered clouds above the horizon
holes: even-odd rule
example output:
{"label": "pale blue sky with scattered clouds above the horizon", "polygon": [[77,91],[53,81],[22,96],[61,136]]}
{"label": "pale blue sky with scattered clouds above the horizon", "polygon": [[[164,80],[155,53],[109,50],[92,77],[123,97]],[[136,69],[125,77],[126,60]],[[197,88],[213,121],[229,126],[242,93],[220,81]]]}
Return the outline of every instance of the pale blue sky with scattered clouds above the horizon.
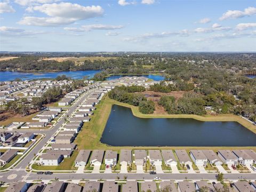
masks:
{"label": "pale blue sky with scattered clouds above the horizon", "polygon": [[256,51],[256,1],[1,0],[0,51]]}

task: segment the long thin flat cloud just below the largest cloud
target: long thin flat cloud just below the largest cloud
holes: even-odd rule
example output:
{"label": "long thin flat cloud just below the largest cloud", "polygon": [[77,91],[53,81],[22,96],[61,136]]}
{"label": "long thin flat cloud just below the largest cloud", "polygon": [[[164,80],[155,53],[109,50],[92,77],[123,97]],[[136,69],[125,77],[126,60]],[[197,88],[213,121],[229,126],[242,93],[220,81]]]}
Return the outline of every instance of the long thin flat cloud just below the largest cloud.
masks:
{"label": "long thin flat cloud just below the largest cloud", "polygon": [[85,25],[81,28],[76,27],[65,27],[65,30],[73,31],[73,32],[84,32],[84,31],[91,31],[91,30],[116,30],[122,29],[124,26],[113,26],[113,25],[102,25],[102,24],[93,24],[93,25]]}

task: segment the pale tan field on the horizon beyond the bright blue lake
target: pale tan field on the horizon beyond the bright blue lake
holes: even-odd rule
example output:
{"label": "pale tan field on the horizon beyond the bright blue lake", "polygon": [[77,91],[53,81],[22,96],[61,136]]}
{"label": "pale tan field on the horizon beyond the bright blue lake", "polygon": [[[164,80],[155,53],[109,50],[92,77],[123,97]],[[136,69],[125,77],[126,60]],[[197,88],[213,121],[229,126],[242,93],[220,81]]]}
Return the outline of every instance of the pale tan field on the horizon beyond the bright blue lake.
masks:
{"label": "pale tan field on the horizon beyond the bright blue lake", "polygon": [[54,57],[54,58],[43,58],[41,60],[47,60],[47,61],[58,61],[58,62],[62,62],[62,61],[74,61],[76,63],[76,65],[79,65],[80,62],[83,62],[84,60],[90,60],[90,61],[94,61],[94,60],[109,60],[109,59],[116,59],[115,57],[109,57],[109,58],[105,58],[105,57]]}

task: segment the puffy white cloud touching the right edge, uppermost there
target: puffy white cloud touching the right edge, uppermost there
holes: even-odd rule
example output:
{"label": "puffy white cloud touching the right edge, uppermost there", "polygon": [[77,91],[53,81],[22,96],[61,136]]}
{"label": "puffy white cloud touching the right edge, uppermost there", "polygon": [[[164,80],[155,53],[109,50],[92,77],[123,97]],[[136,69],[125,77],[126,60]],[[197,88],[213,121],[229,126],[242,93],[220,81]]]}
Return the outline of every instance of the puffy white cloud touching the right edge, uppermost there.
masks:
{"label": "puffy white cloud touching the right edge, uppermost there", "polygon": [[244,9],[244,11],[239,10],[228,10],[226,13],[222,14],[222,17],[220,17],[220,20],[225,19],[236,19],[236,18],[242,18],[245,16],[251,16],[256,14],[256,8],[255,7],[248,7]]}

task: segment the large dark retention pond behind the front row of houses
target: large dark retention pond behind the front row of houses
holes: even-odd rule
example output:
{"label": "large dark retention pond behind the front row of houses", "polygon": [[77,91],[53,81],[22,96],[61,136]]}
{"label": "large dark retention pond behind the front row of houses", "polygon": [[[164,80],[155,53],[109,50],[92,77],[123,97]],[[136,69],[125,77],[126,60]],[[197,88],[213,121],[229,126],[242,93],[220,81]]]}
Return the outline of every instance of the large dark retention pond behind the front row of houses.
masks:
{"label": "large dark retention pond behind the front row of houses", "polygon": [[256,146],[256,134],[237,122],[138,118],[114,105],[101,140],[110,146]]}

